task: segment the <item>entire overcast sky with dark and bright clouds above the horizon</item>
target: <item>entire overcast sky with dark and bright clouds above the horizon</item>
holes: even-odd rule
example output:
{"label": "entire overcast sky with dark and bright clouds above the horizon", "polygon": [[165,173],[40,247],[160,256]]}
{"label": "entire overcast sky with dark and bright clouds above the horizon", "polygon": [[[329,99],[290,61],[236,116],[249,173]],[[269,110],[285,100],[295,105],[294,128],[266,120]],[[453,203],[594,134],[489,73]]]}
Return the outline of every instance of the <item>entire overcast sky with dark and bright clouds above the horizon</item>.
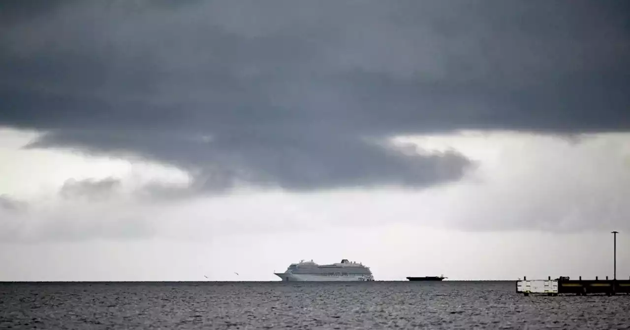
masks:
{"label": "entire overcast sky with dark and bright clouds above the horizon", "polygon": [[629,21],[624,1],[0,3],[0,280],[342,258],[603,277],[612,230],[629,277]]}

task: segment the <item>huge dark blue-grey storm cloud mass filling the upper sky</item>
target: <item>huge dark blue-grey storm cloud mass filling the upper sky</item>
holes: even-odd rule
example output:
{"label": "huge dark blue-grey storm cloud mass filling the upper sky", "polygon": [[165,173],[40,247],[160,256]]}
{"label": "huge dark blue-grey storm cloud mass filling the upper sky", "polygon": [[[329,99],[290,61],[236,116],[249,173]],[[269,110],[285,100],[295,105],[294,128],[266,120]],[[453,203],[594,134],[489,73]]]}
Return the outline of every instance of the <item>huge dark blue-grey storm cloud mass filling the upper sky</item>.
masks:
{"label": "huge dark blue-grey storm cloud mass filling the upper sky", "polygon": [[0,124],[47,131],[33,147],[174,163],[201,189],[437,184],[459,179],[471,162],[455,151],[410,155],[383,141],[457,129],[627,130],[627,7],[86,1],[14,8],[0,23]]}

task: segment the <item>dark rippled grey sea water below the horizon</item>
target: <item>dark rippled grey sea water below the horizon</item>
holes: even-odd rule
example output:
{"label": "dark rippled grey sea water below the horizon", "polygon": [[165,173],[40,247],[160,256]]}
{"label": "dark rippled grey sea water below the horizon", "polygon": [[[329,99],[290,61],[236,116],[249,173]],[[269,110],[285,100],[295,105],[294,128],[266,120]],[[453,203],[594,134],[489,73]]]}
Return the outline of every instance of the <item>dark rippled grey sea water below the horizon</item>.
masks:
{"label": "dark rippled grey sea water below the horizon", "polygon": [[630,329],[630,296],[514,282],[0,283],[0,329]]}

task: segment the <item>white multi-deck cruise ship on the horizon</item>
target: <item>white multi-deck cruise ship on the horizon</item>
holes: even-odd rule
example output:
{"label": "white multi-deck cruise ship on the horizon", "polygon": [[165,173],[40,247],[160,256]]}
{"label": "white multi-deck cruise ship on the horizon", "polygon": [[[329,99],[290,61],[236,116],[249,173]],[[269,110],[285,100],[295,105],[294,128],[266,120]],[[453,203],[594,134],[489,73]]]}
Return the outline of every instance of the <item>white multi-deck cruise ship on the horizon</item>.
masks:
{"label": "white multi-deck cruise ship on the horizon", "polygon": [[275,273],[283,281],[373,281],[369,267],[347,259],[340,263],[318,265],[311,261],[292,263],[284,273]]}

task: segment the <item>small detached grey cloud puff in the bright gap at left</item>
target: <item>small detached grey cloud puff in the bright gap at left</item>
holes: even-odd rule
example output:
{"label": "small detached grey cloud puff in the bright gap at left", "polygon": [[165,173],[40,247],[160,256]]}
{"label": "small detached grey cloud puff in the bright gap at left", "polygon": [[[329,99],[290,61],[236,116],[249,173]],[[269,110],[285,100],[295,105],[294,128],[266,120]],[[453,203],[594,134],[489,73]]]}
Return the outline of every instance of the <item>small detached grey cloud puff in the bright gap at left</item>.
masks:
{"label": "small detached grey cloud puff in the bright gap at left", "polygon": [[120,180],[115,178],[106,178],[102,180],[96,179],[68,179],[64,182],[59,194],[64,198],[81,198],[91,201],[103,200],[120,186]]}

